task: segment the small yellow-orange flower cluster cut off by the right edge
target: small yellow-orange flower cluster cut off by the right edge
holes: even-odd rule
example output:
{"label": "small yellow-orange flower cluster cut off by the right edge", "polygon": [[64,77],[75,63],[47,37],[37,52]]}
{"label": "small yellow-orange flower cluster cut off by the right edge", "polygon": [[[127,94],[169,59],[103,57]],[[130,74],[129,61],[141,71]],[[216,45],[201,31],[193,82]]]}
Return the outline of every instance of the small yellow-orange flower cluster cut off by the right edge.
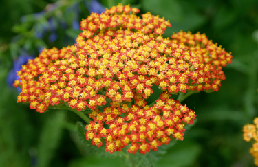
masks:
{"label": "small yellow-orange flower cluster cut off by the right edge", "polygon": [[254,140],[255,143],[252,144],[252,148],[250,148],[250,153],[253,157],[255,157],[255,165],[258,166],[258,118],[253,120],[254,124],[246,124],[243,127],[243,137],[246,142],[250,142],[250,140]]}

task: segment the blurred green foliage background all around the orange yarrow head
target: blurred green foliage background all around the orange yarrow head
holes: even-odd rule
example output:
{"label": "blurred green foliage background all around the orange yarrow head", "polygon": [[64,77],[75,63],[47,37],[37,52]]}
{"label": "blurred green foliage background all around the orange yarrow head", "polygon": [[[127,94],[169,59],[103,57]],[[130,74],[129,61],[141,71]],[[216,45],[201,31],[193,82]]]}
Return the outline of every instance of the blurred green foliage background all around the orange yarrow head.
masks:
{"label": "blurred green foliage background all around the orange yarrow head", "polygon": [[[12,0],[0,5],[0,166],[253,166],[251,144],[242,140],[242,126],[258,116],[258,1],[110,0],[159,14],[172,24],[164,36],[180,30],[205,33],[232,52],[233,63],[224,68],[227,79],[218,92],[197,93],[187,104],[197,121],[183,142],[171,142],[146,155],[109,155],[84,140],[80,118],[67,111],[36,113],[28,104],[17,104],[17,90],[6,78],[22,50],[31,56],[39,47],[65,47],[74,43],[79,30],[72,27],[78,4],[78,21],[86,18],[87,1]],[[54,4],[55,8],[50,10]],[[45,11],[35,19],[34,14]],[[54,19],[58,38],[50,42],[50,31],[37,38],[35,28],[50,26]],[[65,23],[66,27],[62,27]],[[76,123],[77,122],[77,123]],[[79,133],[78,133],[79,132]],[[80,134],[80,135],[78,135]],[[85,141],[85,142],[83,142]],[[140,157],[142,156],[142,157]],[[139,158],[140,157],[140,158]]]}

